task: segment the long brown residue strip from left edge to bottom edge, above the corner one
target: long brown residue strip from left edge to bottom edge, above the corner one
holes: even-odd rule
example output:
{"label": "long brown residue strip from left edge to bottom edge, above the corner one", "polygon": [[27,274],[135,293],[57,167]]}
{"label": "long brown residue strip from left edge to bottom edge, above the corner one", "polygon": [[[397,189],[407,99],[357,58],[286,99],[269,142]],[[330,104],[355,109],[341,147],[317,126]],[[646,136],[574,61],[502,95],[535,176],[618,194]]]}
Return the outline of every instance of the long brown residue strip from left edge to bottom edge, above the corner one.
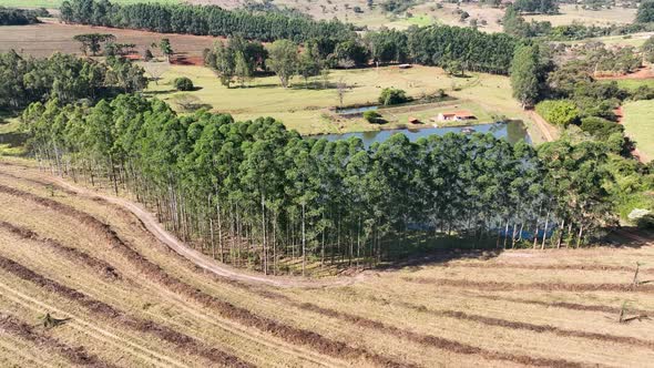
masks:
{"label": "long brown residue strip from left edge to bottom edge, above the corner one", "polygon": [[168,327],[165,327],[152,320],[145,320],[126,315],[125,313],[103,301],[93,299],[83,293],[72,289],[65,285],[59,284],[55,280],[43,277],[34,273],[33,270],[24,267],[23,265],[9,258],[6,258],[3,256],[0,256],[0,268],[23,280],[31,282],[44,288],[45,290],[63,296],[64,298],[71,301],[78,303],[83,307],[88,308],[90,311],[101,317],[109,318],[117,323],[122,323],[129,328],[151,334],[157,338],[161,338],[164,341],[173,344],[186,354],[201,356],[211,361],[218,362],[225,366],[253,367],[252,365],[241,360],[238,357],[235,357],[231,354],[218,350],[216,348],[208,347],[191,336],[177,333],[173,329],[170,329]]}

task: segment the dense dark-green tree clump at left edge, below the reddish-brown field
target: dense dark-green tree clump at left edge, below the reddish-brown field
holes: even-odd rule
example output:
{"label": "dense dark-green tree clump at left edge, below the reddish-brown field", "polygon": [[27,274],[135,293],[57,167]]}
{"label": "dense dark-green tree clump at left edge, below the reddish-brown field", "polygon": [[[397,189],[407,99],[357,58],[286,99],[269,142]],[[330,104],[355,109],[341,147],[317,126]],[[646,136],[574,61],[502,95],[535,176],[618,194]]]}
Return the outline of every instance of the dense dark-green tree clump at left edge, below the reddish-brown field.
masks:
{"label": "dense dark-green tree clump at left edge, below the reddish-brown field", "polygon": [[105,63],[54,53],[47,59],[0,53],[0,110],[19,110],[31,102],[57,98],[63,103],[143,90],[144,71],[119,58]]}

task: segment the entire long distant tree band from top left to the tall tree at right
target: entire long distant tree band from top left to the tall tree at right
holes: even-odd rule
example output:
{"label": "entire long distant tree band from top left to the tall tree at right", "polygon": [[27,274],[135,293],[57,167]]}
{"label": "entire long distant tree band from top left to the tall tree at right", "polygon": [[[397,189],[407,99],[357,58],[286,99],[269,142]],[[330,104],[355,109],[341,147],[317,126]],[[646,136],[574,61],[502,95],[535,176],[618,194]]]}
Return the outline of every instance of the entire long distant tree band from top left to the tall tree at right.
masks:
{"label": "entire long distant tree band from top left to the tall tree at right", "polygon": [[156,32],[256,41],[284,39],[315,50],[320,64],[329,68],[367,65],[370,61],[415,61],[446,67],[456,61],[466,70],[505,74],[517,44],[517,40],[507,34],[447,25],[411,28],[402,32],[381,30],[367,32],[361,38],[351,25],[337,20],[318,22],[306,17],[227,11],[215,6],[117,6],[108,1],[72,0],[62,4],[61,17],[67,22]]}

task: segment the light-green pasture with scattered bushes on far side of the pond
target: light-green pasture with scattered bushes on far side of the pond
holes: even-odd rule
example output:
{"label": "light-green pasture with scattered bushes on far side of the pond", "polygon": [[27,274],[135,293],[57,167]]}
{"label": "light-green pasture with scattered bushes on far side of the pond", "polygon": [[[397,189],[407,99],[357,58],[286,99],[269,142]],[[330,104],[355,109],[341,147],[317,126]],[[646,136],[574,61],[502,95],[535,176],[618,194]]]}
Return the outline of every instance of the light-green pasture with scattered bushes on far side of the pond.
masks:
{"label": "light-green pasture with scattered bushes on far side of the pond", "polygon": [[[172,81],[178,76],[188,76],[198,88],[195,92],[180,93],[172,89]],[[409,116],[429,120],[441,111],[469,109],[488,122],[491,115],[507,115],[527,119],[519,104],[511,98],[509,79],[490,74],[471,74],[469,78],[452,78],[439,68],[415,67],[399,70],[396,67],[361,70],[331,71],[324,88],[321,78],[305,88],[299,78],[292,88],[283,89],[276,76],[256,78],[245,88],[227,89],[219,84],[215,74],[206,68],[172,67],[159,85],[151,83],[149,92],[175,105],[180,94],[194,95],[200,103],[215,111],[232,113],[236,119],[273,116],[283,121],[289,129],[303,134],[338,133],[365,130],[379,130],[361,117],[344,119],[333,110],[339,104],[334,84],[343,80],[349,86],[344,98],[344,105],[375,104],[384,88],[406,90],[413,98],[433,94],[439,89],[458,101],[446,105],[420,106],[388,114],[386,127],[406,124]],[[177,105],[177,108],[180,108]],[[538,139],[537,139],[538,140]]]}

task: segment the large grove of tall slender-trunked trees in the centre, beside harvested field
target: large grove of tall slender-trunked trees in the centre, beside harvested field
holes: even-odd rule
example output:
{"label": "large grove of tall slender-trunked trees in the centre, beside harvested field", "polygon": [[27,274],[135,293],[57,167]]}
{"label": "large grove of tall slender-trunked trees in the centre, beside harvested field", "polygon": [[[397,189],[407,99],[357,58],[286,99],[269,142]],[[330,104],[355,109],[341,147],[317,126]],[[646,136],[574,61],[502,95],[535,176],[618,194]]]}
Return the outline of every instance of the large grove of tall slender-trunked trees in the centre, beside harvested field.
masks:
{"label": "large grove of tall slender-trunked trees in the centre, beside harvested field", "polygon": [[94,108],[38,102],[22,120],[54,171],[109,178],[198,249],[266,273],[289,262],[374,265],[442,238],[580,246],[613,221],[602,143],[535,151],[490,134],[397,134],[366,149],[355,137],[304,139],[270,117],[177,116],[126,94]]}

